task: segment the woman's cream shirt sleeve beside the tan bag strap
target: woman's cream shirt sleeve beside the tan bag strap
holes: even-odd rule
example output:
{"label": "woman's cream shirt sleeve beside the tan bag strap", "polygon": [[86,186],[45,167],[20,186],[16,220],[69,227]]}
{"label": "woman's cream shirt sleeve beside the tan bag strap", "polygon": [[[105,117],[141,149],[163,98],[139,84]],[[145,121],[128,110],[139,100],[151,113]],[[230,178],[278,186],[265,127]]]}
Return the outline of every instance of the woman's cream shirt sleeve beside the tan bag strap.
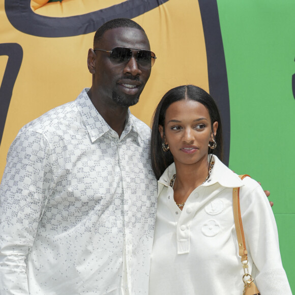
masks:
{"label": "woman's cream shirt sleeve beside the tan bag strap", "polygon": [[258,183],[243,180],[240,189],[242,222],[247,244],[257,272],[255,281],[261,295],[291,295],[283,269],[277,225],[269,200]]}

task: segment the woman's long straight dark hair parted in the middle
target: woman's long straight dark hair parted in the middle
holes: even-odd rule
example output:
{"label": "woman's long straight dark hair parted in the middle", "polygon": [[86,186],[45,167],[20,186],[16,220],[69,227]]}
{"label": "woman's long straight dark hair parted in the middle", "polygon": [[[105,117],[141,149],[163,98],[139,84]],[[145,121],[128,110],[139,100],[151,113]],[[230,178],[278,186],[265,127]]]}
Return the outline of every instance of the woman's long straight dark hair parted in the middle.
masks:
{"label": "woman's long straight dark hair parted in the middle", "polygon": [[165,169],[174,162],[170,151],[164,152],[162,149],[163,140],[159,132],[159,125],[163,126],[165,134],[165,115],[167,108],[176,101],[193,100],[201,103],[208,110],[211,119],[211,129],[213,132],[213,123],[218,122],[218,128],[215,136],[217,143],[216,149],[212,150],[208,147],[208,153],[214,153],[221,161],[223,159],[223,139],[222,125],[218,107],[210,94],[206,93],[202,88],[194,85],[183,85],[169,90],[159,102],[153,119],[152,119],[152,139],[151,139],[151,160],[152,167],[156,178],[159,179]]}

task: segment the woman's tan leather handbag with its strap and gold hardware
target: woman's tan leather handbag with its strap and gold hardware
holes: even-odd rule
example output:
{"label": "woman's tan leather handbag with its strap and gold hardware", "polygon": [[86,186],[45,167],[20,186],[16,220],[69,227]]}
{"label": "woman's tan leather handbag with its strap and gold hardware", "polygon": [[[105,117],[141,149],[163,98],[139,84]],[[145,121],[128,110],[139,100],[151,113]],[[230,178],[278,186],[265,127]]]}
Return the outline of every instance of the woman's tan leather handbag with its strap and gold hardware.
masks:
{"label": "woman's tan leather handbag with its strap and gold hardware", "polygon": [[[241,180],[243,180],[247,174],[239,175]],[[250,176],[249,176],[250,177]],[[243,282],[244,290],[243,295],[260,295],[253,277],[249,274],[248,271],[248,252],[246,249],[244,230],[242,224],[241,210],[240,210],[240,188],[232,189],[232,205],[233,205],[233,219],[235,225],[235,231],[237,232],[238,245],[239,245],[239,255],[241,256],[241,262],[244,269]]]}

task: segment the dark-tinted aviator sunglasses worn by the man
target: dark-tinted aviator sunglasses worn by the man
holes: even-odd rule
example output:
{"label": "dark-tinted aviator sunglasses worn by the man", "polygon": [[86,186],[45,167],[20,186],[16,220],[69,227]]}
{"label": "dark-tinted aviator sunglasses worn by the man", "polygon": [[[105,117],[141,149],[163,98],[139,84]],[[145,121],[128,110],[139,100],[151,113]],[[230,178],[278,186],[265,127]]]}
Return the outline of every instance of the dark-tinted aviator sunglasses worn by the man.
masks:
{"label": "dark-tinted aviator sunglasses worn by the man", "polygon": [[104,50],[99,48],[95,48],[93,50],[108,52],[111,62],[118,65],[128,63],[133,55],[132,51],[137,51],[135,54],[137,65],[139,68],[145,70],[151,69],[154,66],[155,60],[157,58],[155,53],[152,51],[134,48],[115,47],[112,50]]}

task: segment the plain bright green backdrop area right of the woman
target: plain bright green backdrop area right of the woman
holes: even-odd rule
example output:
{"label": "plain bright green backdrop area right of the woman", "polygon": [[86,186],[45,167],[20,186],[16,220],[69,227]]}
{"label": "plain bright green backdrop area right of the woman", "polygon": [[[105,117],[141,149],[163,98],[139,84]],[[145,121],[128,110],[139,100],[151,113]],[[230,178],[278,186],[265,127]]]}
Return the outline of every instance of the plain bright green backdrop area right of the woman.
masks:
{"label": "plain bright green backdrop area right of the woman", "polygon": [[217,3],[230,99],[229,167],[271,191],[283,265],[294,292],[295,2]]}

